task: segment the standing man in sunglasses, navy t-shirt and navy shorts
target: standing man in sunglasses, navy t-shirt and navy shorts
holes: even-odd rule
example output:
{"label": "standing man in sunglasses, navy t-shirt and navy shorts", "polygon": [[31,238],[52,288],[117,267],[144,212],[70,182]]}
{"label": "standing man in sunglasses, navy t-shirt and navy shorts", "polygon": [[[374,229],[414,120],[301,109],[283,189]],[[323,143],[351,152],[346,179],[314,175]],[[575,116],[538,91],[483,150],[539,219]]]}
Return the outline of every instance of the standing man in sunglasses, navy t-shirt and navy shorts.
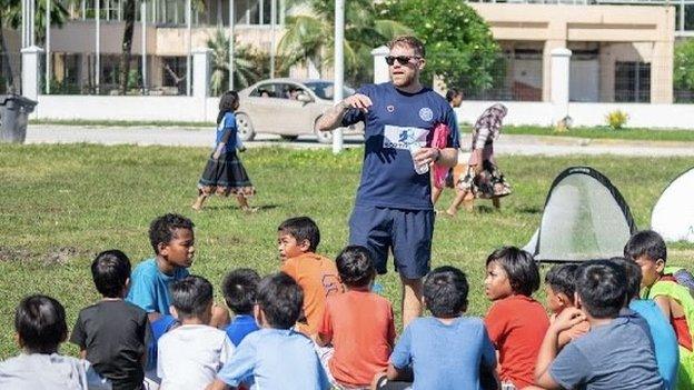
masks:
{"label": "standing man in sunglasses, navy t-shirt and navy shorts", "polygon": [[[324,113],[316,128],[330,131],[365,123],[364,168],[349,219],[349,242],[371,251],[379,273],[386,272],[388,250],[393,251],[404,286],[406,326],[422,314],[422,278],[429,271],[434,233],[429,173],[417,173],[415,166],[455,167],[459,143],[453,109],[419,82],[423,43],[400,37],[389,48],[391,82],[361,87]],[[450,129],[445,149],[427,147],[438,123]]]}

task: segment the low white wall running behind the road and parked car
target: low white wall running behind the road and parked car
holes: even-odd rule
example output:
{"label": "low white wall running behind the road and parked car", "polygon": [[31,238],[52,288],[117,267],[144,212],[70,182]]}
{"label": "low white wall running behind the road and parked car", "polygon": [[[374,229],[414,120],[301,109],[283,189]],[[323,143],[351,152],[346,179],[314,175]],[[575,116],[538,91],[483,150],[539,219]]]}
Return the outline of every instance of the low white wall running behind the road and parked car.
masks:
{"label": "low white wall running behind the road and parked car", "polygon": [[[474,123],[495,101],[465,101],[456,109],[458,121]],[[552,124],[552,103],[503,102],[508,108],[506,124]],[[219,98],[39,96],[34,119],[131,120],[212,122]],[[694,129],[694,104],[569,103],[574,126],[602,126],[605,116],[622,110],[629,116],[627,127]]]}

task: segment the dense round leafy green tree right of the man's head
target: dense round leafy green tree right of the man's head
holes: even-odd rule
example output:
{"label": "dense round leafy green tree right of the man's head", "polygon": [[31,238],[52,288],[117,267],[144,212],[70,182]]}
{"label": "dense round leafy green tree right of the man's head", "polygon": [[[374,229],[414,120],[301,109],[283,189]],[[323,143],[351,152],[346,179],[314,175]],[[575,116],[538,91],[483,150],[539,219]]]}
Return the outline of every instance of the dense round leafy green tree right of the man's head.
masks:
{"label": "dense round leafy green tree right of the man's head", "polygon": [[487,23],[459,0],[387,0],[381,13],[412,27],[427,51],[424,79],[475,92],[492,87],[503,71],[499,47]]}

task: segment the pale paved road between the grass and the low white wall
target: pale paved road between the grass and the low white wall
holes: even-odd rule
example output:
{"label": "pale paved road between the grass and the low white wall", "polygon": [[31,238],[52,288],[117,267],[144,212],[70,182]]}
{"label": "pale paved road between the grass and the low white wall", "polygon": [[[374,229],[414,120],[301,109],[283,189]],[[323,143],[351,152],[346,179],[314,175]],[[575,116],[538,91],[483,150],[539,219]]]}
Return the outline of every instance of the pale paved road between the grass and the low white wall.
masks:
{"label": "pale paved road between the grass and the low white wall", "polygon": [[[468,134],[469,137],[469,134]],[[27,131],[27,143],[99,143],[140,146],[211,147],[214,130],[204,128],[158,127],[76,127],[57,124],[31,124]],[[363,138],[351,136],[345,139],[347,148],[360,147]],[[463,144],[469,144],[464,140]],[[258,136],[247,142],[256,147],[329,148],[315,137],[300,137],[288,142],[278,136]],[[617,156],[692,156],[694,143],[626,140],[594,140],[572,137],[512,136],[503,134],[495,143],[498,154],[568,156],[568,154],[617,154]]]}

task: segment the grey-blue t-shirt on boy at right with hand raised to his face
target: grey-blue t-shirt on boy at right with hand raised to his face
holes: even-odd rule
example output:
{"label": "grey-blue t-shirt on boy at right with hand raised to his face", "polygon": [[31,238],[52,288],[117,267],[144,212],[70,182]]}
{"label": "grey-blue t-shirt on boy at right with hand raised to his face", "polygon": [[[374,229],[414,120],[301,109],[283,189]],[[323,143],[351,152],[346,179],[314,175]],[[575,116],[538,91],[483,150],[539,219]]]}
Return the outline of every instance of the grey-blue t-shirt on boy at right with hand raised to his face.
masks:
{"label": "grey-blue t-shirt on boy at right with hand raised to his face", "polygon": [[549,366],[549,374],[565,389],[665,388],[655,362],[648,326],[628,309],[564,347]]}

